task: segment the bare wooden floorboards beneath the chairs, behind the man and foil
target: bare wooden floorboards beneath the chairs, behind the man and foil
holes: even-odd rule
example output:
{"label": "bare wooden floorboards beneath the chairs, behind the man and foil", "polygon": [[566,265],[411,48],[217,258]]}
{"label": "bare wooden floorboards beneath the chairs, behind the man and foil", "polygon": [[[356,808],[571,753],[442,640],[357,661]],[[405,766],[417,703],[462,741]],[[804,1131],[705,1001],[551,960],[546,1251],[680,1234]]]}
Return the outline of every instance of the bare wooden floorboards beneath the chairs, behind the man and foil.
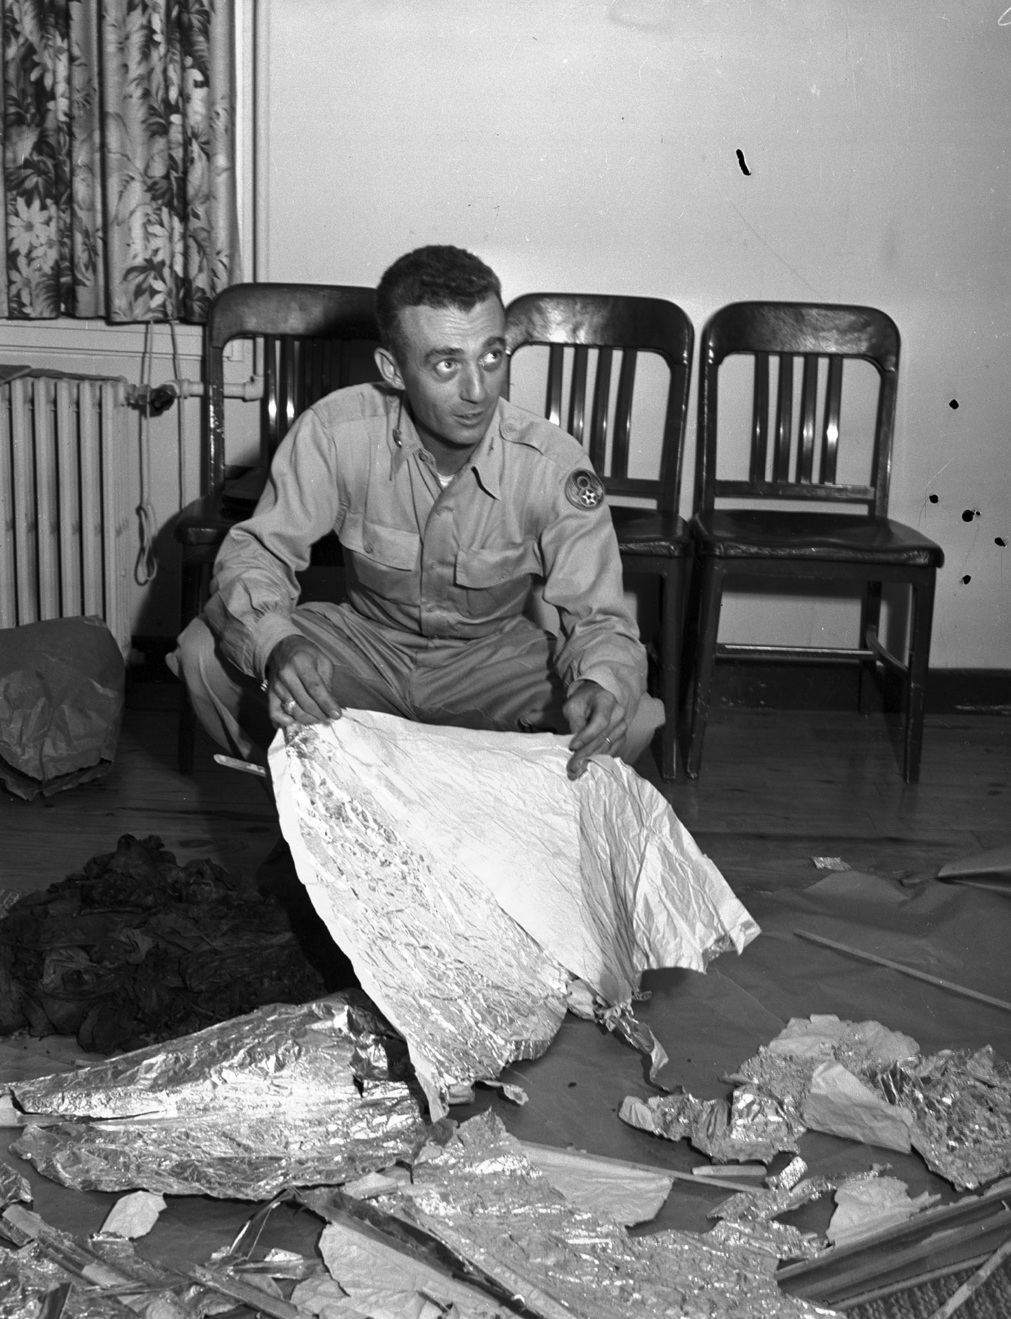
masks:
{"label": "bare wooden floorboards beneath the chairs, behind the man and foil", "polygon": [[[100,782],[34,802],[0,789],[0,889],[45,888],[128,832],[158,834],[179,861],[260,867],[278,838],[266,794],[217,766],[210,743],[199,744],[192,776],[178,773],[175,696],[169,686],[134,689]],[[638,768],[659,786],[649,754]],[[701,777],[664,791],[745,898],[812,882],[812,856],[881,874],[935,873],[1011,842],[1011,719],[928,719],[923,777],[907,786],[881,715],[717,711]]]}

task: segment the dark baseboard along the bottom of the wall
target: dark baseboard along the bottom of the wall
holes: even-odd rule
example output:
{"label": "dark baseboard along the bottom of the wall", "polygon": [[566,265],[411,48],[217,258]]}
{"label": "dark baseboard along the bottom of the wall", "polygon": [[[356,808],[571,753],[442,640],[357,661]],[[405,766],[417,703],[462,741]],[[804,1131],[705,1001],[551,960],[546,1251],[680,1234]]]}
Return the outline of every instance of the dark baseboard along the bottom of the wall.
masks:
{"label": "dark baseboard along the bottom of the wall", "polygon": [[[174,637],[133,637],[130,685],[174,683],[165,663]],[[848,663],[762,663],[720,660],[713,703],[753,710],[854,710],[858,675]],[[933,715],[1011,715],[1011,669],[932,669],[927,710]]]}

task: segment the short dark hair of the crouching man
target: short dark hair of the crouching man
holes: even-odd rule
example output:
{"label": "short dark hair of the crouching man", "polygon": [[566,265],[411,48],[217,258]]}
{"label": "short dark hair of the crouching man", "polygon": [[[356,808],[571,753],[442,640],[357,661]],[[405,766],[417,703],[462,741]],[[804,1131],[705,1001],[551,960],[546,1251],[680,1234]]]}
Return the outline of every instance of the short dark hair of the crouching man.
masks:
{"label": "short dark hair of the crouching man", "polygon": [[394,357],[405,350],[401,338],[403,307],[460,307],[471,311],[486,298],[502,301],[494,270],[464,248],[423,247],[398,257],[376,289],[376,319],[382,343]]}

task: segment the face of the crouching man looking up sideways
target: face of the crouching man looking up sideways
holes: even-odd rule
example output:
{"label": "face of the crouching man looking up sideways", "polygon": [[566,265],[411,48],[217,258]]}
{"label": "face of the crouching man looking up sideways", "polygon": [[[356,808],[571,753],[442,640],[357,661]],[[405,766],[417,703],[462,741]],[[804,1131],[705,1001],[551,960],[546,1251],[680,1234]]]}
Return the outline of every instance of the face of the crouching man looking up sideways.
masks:
{"label": "face of the crouching man looking up sideways", "polygon": [[[492,421],[505,385],[505,313],[496,297],[469,311],[403,307],[399,348],[384,353],[385,379],[403,389],[422,442],[472,448]],[[382,350],[381,350],[382,352]]]}

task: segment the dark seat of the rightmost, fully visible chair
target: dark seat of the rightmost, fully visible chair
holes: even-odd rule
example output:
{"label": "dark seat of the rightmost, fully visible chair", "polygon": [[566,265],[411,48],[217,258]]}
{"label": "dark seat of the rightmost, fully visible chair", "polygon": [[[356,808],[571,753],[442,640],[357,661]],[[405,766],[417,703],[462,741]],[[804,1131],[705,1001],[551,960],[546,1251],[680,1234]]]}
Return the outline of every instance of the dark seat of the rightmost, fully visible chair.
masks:
{"label": "dark seat of the rightmost, fully visible chair", "polygon": [[944,550],[890,517],[805,510],[709,509],[691,524],[705,557],[794,559],[935,567]]}

